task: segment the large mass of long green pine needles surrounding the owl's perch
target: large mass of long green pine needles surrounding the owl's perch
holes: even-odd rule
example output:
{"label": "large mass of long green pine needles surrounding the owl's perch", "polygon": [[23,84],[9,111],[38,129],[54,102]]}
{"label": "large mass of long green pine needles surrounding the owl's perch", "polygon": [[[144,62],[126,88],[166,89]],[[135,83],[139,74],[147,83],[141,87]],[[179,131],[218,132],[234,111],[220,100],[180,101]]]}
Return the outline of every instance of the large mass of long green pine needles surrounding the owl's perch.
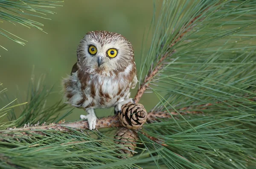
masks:
{"label": "large mass of long green pine needles surrounding the owl's perch", "polygon": [[[144,124],[142,132],[162,139],[167,146],[156,144],[138,132],[137,154],[122,160],[117,158],[122,147],[114,143],[115,129],[99,132],[38,129],[23,133],[18,129],[6,130],[27,122],[58,122],[71,113],[66,110],[64,116],[58,116],[68,108],[61,101],[45,106],[44,100],[51,90],[38,80],[29,85],[28,103],[18,105],[23,107],[18,117],[12,104],[0,109],[0,119],[9,115],[10,121],[0,123],[0,167],[248,169],[256,166],[256,1],[164,0],[159,17],[156,16],[151,24],[151,47],[142,55],[139,66],[139,87],[145,74],[160,63],[161,68],[148,90],[159,99],[151,111],[166,111],[172,118]],[[165,54],[169,56],[161,61]],[[4,91],[0,92],[2,96]]]}

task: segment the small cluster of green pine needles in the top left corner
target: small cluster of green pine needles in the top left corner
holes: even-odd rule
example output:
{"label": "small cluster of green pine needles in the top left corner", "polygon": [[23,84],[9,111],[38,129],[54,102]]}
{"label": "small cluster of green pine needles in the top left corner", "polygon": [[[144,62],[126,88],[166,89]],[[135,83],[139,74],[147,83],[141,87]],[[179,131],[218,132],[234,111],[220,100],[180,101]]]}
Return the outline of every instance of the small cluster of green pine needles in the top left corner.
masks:
{"label": "small cluster of green pine needles in the top left corner", "polygon": [[[54,14],[55,12],[47,10],[47,8],[55,8],[56,3],[63,2],[61,0],[0,0],[0,22],[4,24],[9,22],[13,25],[20,24],[26,26],[27,28],[37,28],[43,31],[41,28],[44,26],[35,20],[28,19],[27,17],[40,17],[44,19],[49,19],[44,16],[48,14]],[[44,32],[44,31],[43,31]],[[46,33],[46,32],[44,32]],[[17,37],[15,34],[0,28],[0,35],[11,39],[12,41],[25,45],[26,40]],[[0,45],[3,49],[7,51],[6,48]]]}

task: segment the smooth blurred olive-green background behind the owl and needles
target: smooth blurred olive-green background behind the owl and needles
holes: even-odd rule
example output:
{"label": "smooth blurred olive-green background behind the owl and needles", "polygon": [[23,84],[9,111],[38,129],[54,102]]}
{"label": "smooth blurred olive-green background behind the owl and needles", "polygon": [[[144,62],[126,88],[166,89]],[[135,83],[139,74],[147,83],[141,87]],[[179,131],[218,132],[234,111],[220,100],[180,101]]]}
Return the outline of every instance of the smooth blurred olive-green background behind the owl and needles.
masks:
{"label": "smooth blurred olive-green background behind the owl and needles", "polygon": [[[10,100],[25,101],[28,83],[33,65],[35,77],[47,73],[46,84],[55,84],[55,93],[49,96],[47,104],[55,103],[62,97],[61,79],[70,74],[76,62],[76,48],[79,41],[88,31],[106,30],[118,32],[131,41],[135,51],[137,70],[140,67],[143,33],[147,34],[154,11],[153,0],[66,0],[58,3],[62,7],[50,8],[57,14],[47,14],[52,20],[27,17],[44,24],[44,31],[12,25],[6,21],[1,28],[26,39],[25,46],[19,45],[3,36],[0,45],[0,82],[8,88]],[[156,2],[157,11],[162,1]],[[150,44],[151,34],[145,47]],[[145,53],[147,50],[145,50]],[[18,89],[17,89],[18,86]],[[135,96],[137,88],[131,90]],[[141,103],[150,110],[156,103],[152,94],[145,94]],[[1,100],[0,100],[1,101]],[[18,109],[16,109],[18,112]],[[65,120],[79,119],[83,110],[75,109]],[[97,117],[113,115],[113,108],[96,110]]]}

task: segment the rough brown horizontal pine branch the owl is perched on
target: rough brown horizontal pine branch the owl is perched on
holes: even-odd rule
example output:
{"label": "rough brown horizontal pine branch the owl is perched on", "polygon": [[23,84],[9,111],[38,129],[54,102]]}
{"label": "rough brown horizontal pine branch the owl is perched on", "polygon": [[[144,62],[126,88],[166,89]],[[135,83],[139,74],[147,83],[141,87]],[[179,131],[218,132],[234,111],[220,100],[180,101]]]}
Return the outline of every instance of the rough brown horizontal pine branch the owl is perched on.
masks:
{"label": "rough brown horizontal pine branch the owl is perched on", "polygon": [[[256,97],[252,99],[247,99],[248,101],[256,101]],[[227,101],[224,101],[227,102]],[[221,104],[222,102],[215,102],[215,104]],[[207,104],[201,104],[195,107],[195,110],[192,109],[192,107],[183,107],[181,109],[178,109],[179,113],[181,115],[188,115],[188,114],[201,114],[203,113],[203,110],[206,110],[207,107],[213,106],[214,104],[212,103],[207,103]],[[179,115],[176,111],[172,110],[166,110],[162,112],[157,112],[157,111],[152,111],[147,113],[147,123],[154,123],[154,122],[159,122],[160,119],[168,119],[168,118],[173,118],[172,115]],[[178,118],[178,116],[176,117]],[[101,128],[111,128],[111,127],[123,127],[122,123],[119,121],[118,115],[114,116],[108,116],[106,118],[99,118],[97,119],[96,122],[96,128],[101,129]],[[59,123],[51,123],[51,124],[46,124],[45,122],[41,125],[39,125],[39,121],[37,124],[24,124],[23,127],[20,128],[8,128],[8,130],[2,130],[0,133],[9,133],[9,132],[36,132],[38,133],[38,130],[59,130],[59,131],[65,131],[65,132],[70,132],[70,128],[76,129],[76,130],[89,130],[89,124],[85,120],[79,120],[79,121],[74,121],[74,122],[65,122],[65,121],[60,121]],[[34,131],[35,130],[35,131]],[[24,133],[25,134],[25,133]],[[152,139],[155,141],[155,138]],[[160,143],[160,141],[155,141],[157,143]]]}

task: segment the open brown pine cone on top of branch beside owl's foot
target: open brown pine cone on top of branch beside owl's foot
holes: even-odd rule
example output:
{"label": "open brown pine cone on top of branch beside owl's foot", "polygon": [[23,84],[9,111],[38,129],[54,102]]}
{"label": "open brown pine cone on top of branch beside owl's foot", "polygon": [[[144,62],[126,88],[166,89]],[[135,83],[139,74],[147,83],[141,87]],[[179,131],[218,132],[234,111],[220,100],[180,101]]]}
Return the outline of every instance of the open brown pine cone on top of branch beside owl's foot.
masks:
{"label": "open brown pine cone on top of branch beside owl's foot", "polygon": [[119,120],[128,129],[140,129],[146,122],[147,112],[142,104],[129,102],[122,106],[122,112],[118,114]]}

